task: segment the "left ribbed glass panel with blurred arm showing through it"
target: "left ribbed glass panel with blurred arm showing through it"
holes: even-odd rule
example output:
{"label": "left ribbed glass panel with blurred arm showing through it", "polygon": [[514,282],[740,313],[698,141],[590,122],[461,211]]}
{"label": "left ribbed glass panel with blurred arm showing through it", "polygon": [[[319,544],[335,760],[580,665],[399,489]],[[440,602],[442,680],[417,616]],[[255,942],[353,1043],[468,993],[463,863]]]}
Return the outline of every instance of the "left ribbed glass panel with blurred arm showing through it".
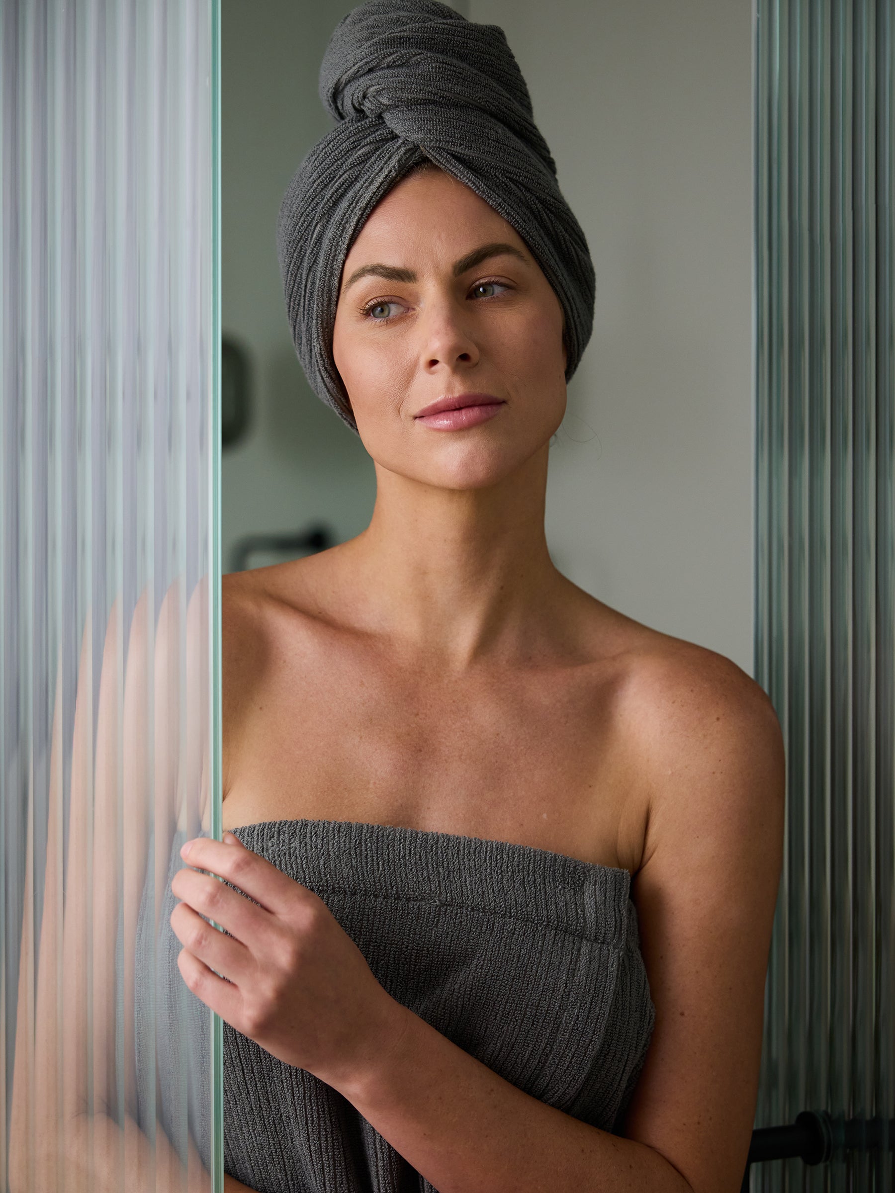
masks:
{"label": "left ribbed glass panel with blurred arm showing through it", "polygon": [[0,5],[11,1193],[223,1187],[221,1025],[167,922],[220,836],[216,4]]}

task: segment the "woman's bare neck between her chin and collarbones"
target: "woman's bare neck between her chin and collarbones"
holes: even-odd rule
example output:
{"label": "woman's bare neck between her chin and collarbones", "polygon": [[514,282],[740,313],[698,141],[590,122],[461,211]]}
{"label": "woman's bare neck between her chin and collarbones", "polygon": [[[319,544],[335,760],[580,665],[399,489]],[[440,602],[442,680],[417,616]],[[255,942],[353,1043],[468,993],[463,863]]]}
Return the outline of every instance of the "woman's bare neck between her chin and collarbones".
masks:
{"label": "woman's bare neck between her chin and collarbones", "polygon": [[445,489],[377,465],[369,527],[345,544],[365,628],[450,669],[530,656],[568,581],[544,536],[548,445],[498,484]]}

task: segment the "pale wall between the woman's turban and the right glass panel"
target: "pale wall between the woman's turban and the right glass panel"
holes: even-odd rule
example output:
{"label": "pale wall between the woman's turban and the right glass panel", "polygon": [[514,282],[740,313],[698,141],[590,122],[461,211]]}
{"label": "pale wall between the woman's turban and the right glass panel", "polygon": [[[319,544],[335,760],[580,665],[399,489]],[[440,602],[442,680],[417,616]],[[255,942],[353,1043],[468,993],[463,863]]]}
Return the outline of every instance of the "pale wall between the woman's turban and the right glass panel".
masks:
{"label": "pale wall between the woman's turban and the right glass panel", "polygon": [[550,455],[554,561],[752,674],[752,2],[471,0],[471,18],[507,35],[597,271]]}

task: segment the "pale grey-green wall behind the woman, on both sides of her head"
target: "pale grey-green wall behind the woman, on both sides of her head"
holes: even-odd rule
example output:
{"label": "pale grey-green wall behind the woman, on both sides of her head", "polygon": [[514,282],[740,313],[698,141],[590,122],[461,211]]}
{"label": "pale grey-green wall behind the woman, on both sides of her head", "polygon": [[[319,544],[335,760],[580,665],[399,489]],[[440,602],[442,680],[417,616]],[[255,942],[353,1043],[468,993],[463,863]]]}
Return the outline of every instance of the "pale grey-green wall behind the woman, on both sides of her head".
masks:
{"label": "pale grey-green wall behind the woman, on both sides of her head", "polygon": [[[274,228],[331,119],[334,0],[223,0],[223,328],[254,422],[223,457],[224,569],[242,534],[359,533],[363,445],[292,347]],[[752,2],[467,0],[529,84],[597,270],[594,333],[550,455],[556,565],[606,604],[752,674]]]}

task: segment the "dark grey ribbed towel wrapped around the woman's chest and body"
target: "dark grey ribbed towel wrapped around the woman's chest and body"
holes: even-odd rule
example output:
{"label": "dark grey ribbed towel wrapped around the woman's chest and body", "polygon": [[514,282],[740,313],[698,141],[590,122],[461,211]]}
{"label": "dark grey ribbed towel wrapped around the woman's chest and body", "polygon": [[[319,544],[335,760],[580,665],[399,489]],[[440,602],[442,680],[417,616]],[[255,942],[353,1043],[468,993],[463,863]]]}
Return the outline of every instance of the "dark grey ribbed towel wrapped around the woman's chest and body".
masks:
{"label": "dark grey ribbed towel wrapped around the woman's chest and body", "polygon": [[[382,824],[265,821],[234,833],[326,902],[394,999],[525,1093],[621,1129],[655,1019],[626,870]],[[156,997],[171,1006],[185,995],[204,1022],[177,966],[167,895]],[[141,1107],[154,1073],[144,1019]],[[208,1063],[206,1032],[158,1045],[162,1088],[179,1071],[178,1047]],[[223,1049],[227,1173],[259,1193],[434,1193],[331,1086],[229,1024]]]}

